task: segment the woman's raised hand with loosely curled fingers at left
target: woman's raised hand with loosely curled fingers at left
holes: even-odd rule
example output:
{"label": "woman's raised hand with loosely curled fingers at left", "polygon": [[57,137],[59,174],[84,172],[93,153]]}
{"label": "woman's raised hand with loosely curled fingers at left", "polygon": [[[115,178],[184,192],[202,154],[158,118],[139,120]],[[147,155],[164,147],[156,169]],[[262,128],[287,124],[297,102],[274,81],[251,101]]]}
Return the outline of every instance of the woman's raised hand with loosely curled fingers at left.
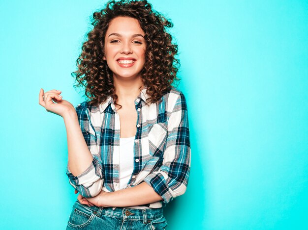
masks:
{"label": "woman's raised hand with loosely curled fingers at left", "polygon": [[44,93],[43,89],[40,89],[38,96],[38,103],[42,105],[48,112],[64,116],[69,111],[75,111],[74,106],[62,99],[60,90],[49,90]]}

